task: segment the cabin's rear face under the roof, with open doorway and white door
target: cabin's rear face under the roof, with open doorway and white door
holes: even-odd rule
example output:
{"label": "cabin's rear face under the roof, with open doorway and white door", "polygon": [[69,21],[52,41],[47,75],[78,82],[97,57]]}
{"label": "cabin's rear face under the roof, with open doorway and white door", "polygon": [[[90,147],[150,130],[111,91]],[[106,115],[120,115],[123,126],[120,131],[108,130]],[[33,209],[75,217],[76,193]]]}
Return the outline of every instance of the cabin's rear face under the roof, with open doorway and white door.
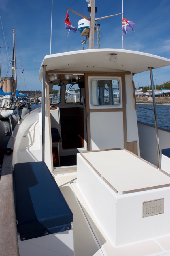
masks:
{"label": "cabin's rear face under the roof, with open doorway and white door", "polygon": [[130,72],[46,72],[54,169],[76,165],[78,152],[125,148],[139,155],[132,80]]}

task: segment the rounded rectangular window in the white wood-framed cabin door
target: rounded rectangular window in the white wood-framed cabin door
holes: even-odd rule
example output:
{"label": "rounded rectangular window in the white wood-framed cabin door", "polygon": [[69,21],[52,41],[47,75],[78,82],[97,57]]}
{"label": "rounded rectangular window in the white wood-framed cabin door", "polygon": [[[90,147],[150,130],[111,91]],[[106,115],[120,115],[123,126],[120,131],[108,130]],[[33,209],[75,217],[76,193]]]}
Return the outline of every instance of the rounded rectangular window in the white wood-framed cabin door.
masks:
{"label": "rounded rectangular window in the white wood-framed cabin door", "polygon": [[120,82],[117,79],[93,79],[91,81],[91,90],[92,104],[94,106],[120,104]]}

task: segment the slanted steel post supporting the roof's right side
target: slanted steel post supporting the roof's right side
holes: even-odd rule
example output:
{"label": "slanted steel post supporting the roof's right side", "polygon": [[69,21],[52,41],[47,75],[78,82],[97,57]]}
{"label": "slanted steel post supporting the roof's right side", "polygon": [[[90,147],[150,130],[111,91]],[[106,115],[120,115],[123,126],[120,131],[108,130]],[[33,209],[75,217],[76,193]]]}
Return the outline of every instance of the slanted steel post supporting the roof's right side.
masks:
{"label": "slanted steel post supporting the roof's right side", "polygon": [[156,101],[155,101],[155,91],[154,91],[154,79],[152,74],[152,67],[148,67],[150,71],[150,81],[152,87],[152,98],[153,98],[153,107],[154,107],[154,117],[155,117],[155,132],[156,132],[156,146],[158,154],[158,168],[161,168],[161,159],[160,159],[160,146],[159,146],[159,136],[158,136],[158,120],[156,115]]}

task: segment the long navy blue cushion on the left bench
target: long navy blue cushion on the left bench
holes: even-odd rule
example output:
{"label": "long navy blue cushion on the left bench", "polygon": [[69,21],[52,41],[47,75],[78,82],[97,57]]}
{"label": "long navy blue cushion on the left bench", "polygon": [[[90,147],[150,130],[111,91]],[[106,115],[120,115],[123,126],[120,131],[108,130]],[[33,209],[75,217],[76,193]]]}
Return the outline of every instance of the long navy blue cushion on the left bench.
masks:
{"label": "long navy blue cushion on the left bench", "polygon": [[17,229],[22,237],[71,227],[73,214],[45,162],[15,164],[14,181]]}

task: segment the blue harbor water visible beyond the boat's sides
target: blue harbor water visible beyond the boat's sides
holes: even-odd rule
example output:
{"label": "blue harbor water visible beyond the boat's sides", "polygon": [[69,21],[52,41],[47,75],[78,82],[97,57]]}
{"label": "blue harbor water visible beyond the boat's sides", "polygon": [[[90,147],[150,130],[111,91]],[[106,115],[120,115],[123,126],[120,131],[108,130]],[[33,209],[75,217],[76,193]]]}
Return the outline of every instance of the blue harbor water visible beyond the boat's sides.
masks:
{"label": "blue harbor water visible beyond the boat's sides", "polygon": [[[32,110],[40,107],[41,105],[31,105]],[[137,104],[137,120],[147,123],[149,125],[155,125],[153,105]],[[158,127],[167,129],[170,131],[170,104],[169,105],[156,105]],[[3,121],[5,131],[9,130],[9,121]]]}

